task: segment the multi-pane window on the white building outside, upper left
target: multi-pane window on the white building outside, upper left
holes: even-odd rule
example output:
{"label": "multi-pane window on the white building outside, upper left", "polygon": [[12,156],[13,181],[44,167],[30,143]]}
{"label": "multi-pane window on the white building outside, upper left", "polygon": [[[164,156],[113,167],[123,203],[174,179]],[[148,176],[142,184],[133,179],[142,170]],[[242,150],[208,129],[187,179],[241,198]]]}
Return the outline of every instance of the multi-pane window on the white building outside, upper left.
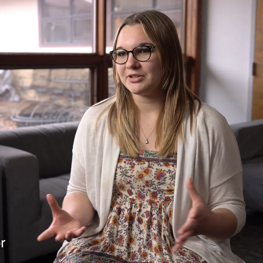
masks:
{"label": "multi-pane window on the white building outside, upper left", "polygon": [[93,0],[39,0],[41,46],[92,46]]}

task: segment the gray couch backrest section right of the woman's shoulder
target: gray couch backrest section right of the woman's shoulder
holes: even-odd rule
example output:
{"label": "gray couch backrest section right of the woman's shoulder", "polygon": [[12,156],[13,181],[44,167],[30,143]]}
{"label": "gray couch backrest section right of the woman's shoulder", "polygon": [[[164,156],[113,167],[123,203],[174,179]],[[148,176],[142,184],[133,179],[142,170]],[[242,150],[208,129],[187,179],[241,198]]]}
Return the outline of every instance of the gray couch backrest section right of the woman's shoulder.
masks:
{"label": "gray couch backrest section right of the woman's shoulder", "polygon": [[263,119],[230,125],[240,151],[242,162],[263,157]]}

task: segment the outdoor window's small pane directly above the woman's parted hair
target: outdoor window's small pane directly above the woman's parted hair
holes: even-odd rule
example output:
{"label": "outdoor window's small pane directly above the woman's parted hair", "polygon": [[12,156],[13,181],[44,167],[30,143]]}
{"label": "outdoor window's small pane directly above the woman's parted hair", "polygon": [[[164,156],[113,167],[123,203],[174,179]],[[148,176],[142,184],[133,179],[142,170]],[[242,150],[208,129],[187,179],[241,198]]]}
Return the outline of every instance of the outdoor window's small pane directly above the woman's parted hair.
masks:
{"label": "outdoor window's small pane directly above the woman's parted hair", "polygon": [[119,11],[138,11],[141,8],[152,7],[152,0],[115,0],[113,1],[114,12]]}

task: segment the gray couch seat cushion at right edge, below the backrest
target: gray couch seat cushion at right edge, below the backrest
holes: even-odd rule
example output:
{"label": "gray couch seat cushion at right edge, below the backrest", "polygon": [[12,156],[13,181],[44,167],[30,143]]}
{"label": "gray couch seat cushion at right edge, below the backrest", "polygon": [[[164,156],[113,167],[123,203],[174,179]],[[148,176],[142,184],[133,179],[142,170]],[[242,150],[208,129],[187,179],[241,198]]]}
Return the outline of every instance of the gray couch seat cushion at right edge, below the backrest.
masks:
{"label": "gray couch seat cushion at right edge, below the backrest", "polygon": [[246,208],[263,212],[263,157],[243,163],[243,193]]}

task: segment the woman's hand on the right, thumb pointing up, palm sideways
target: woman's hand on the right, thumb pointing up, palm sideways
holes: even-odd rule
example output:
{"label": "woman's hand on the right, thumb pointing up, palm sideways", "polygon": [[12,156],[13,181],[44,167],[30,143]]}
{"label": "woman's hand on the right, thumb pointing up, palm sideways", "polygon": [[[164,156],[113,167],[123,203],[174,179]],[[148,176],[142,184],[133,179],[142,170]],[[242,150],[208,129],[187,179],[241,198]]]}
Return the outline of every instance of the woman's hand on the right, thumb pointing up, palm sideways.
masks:
{"label": "woman's hand on the right, thumb pointing up, palm sideways", "polygon": [[186,222],[178,230],[179,237],[176,239],[177,244],[173,248],[174,252],[179,250],[190,236],[209,233],[215,218],[215,214],[193,186],[191,178],[187,179],[186,187],[192,199],[192,208],[188,213]]}

